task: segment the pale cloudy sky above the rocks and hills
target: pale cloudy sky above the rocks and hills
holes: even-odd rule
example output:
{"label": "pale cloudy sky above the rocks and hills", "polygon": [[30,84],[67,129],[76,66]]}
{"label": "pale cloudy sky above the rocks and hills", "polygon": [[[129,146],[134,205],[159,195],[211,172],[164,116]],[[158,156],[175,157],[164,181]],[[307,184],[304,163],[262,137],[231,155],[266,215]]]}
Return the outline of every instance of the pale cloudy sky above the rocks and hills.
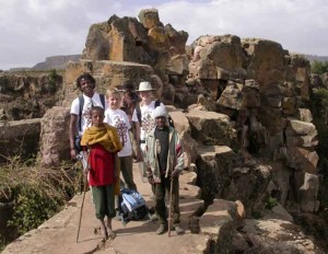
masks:
{"label": "pale cloudy sky above the rocks and hills", "polygon": [[278,42],[292,53],[328,56],[327,0],[0,0],[0,69],[81,54],[89,27],[113,14],[160,19],[198,36],[234,34]]}

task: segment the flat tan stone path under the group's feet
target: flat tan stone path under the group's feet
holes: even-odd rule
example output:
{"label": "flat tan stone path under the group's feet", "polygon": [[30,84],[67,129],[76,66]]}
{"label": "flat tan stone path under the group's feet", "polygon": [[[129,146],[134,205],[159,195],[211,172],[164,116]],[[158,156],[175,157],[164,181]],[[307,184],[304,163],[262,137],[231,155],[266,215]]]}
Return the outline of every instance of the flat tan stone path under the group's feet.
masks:
{"label": "flat tan stone path under the group's feet", "polygon": [[[150,185],[142,183],[138,165],[133,164],[134,178],[139,192],[149,206],[152,205]],[[181,181],[183,177],[181,177]],[[209,236],[191,234],[188,229],[188,218],[196,209],[203,206],[197,196],[197,188],[180,184],[181,226],[186,229],[184,235],[156,235],[156,221],[130,221],[126,227],[114,220],[113,227],[117,233],[114,240],[103,241],[96,233],[98,221],[95,219],[91,195],[87,192],[84,200],[82,223],[79,241],[77,242],[78,223],[82,196],[77,195],[67,207],[43,223],[38,229],[30,231],[5,247],[2,254],[13,253],[143,253],[143,254],[174,254],[174,253],[202,253],[208,249]]]}

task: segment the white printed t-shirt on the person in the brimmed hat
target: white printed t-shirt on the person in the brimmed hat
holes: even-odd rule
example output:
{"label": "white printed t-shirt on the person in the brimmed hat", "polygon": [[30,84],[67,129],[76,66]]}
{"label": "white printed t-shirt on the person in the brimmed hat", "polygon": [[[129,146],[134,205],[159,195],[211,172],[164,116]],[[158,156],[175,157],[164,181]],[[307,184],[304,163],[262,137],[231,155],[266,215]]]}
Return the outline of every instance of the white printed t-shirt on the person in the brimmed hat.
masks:
{"label": "white printed t-shirt on the person in the brimmed hat", "polygon": [[[161,102],[160,106],[164,106],[164,104]],[[154,109],[155,109],[155,101],[152,101],[149,105],[140,106],[140,112],[141,112],[140,141],[144,140],[147,135],[149,135],[150,131],[155,127],[155,120],[152,117],[152,113]],[[133,111],[132,122],[139,122],[136,108]]]}

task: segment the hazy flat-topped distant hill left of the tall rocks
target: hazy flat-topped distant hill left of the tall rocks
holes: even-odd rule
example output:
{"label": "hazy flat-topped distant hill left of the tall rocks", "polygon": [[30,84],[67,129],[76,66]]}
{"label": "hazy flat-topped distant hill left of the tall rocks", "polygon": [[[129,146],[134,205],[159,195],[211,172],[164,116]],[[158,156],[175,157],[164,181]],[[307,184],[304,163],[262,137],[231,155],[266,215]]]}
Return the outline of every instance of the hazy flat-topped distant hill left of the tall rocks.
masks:
{"label": "hazy flat-topped distant hill left of the tall rocks", "polygon": [[63,70],[69,61],[78,61],[81,55],[52,56],[45,61],[36,64],[31,70]]}

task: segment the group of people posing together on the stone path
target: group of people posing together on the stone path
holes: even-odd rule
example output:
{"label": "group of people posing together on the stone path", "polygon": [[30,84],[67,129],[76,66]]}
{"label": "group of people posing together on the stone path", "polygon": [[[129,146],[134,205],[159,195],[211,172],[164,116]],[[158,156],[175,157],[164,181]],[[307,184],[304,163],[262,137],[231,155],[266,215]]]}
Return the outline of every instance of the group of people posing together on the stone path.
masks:
{"label": "group of people posing together on the stone path", "polygon": [[70,149],[73,160],[82,157],[103,236],[115,236],[112,220],[119,207],[120,173],[125,187],[137,190],[133,154],[143,165],[155,196],[154,209],[160,221],[156,233],[168,230],[165,196],[172,190],[173,227],[177,234],[183,234],[178,175],[184,169],[184,155],[179,137],[168,125],[165,106],[155,105],[154,89],[148,81],[140,82],[138,94],[128,81],[122,91],[109,88],[105,96],[95,92],[95,83],[90,73],[77,79],[82,95],[71,104]]}

